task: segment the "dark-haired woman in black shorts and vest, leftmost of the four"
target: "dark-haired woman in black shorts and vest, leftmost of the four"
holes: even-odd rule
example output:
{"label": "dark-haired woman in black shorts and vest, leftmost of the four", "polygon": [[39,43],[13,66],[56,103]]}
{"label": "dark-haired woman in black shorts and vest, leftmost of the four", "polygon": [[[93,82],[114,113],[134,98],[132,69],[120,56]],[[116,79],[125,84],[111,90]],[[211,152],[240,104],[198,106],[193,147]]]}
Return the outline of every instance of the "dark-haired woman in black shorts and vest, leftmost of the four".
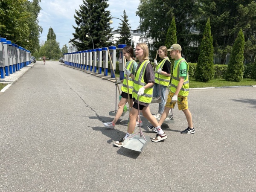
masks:
{"label": "dark-haired woman in black shorts and vest, leftmost of the four", "polygon": [[[135,74],[135,71],[137,69],[138,64],[136,63],[136,61],[134,61],[135,58],[133,58],[133,48],[131,46],[125,46],[123,49],[123,55],[125,56],[125,59],[127,59],[126,62],[126,68],[131,71],[131,74]],[[116,125],[116,122],[118,121],[118,119],[120,118],[120,116],[123,113],[123,109],[124,106],[126,105],[126,103],[128,102],[128,90],[127,90],[127,82],[126,82],[126,75],[124,76],[124,79],[122,79],[122,81],[118,80],[115,82],[115,84],[121,84],[122,83],[122,93],[121,96],[122,98],[120,99],[120,102],[118,104],[118,110],[116,112],[116,116],[113,119],[112,122],[106,122],[103,123],[103,125],[107,128],[111,128],[113,129]],[[130,94],[130,108],[132,107],[132,90],[133,90],[133,86],[134,86],[134,80],[128,76],[128,85],[129,85],[129,94]]]}

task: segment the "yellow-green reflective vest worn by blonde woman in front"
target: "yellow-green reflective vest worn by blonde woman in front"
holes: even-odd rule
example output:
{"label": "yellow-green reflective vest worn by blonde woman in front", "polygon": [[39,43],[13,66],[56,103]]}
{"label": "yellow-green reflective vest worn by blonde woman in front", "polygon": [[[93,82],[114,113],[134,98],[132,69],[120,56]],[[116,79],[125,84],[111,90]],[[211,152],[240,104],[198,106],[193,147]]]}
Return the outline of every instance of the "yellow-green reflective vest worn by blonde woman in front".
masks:
{"label": "yellow-green reflective vest worn by blonde woman in front", "polygon": [[[144,81],[144,75],[146,66],[150,63],[150,61],[145,60],[142,62],[140,67],[137,67],[136,75],[134,78],[134,90],[132,92],[132,96],[137,100],[138,99],[138,91],[141,87],[144,87],[146,85]],[[143,72],[143,73],[141,73]],[[143,103],[151,103],[152,97],[153,97],[153,87],[149,87],[144,90],[144,94],[139,97],[139,101]]]}

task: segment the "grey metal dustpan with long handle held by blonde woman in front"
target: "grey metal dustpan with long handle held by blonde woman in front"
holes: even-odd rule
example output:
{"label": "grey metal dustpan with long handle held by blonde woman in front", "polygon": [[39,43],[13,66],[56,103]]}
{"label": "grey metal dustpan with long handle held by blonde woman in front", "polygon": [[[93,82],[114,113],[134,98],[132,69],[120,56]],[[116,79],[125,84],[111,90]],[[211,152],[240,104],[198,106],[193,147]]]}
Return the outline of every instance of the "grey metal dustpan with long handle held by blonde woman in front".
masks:
{"label": "grey metal dustpan with long handle held by blonde woman in front", "polygon": [[[139,110],[139,122],[140,122],[140,102],[139,102],[139,96],[138,96],[138,110]],[[143,132],[141,131],[141,126],[140,126],[140,131],[136,134],[131,135],[130,137],[127,138],[127,143],[124,143],[123,147],[131,149],[133,151],[139,151],[142,152],[143,148],[145,145],[148,144],[150,140],[150,137],[144,136]]]}

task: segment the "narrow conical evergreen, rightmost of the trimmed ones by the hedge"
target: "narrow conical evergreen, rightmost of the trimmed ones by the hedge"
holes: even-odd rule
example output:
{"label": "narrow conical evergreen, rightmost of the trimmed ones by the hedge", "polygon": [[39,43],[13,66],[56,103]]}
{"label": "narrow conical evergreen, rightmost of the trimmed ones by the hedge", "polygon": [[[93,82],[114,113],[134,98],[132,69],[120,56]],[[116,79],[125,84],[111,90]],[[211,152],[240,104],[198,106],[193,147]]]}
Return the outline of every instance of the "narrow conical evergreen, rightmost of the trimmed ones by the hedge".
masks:
{"label": "narrow conical evergreen, rightmost of the trimmed ones by the hedge", "polygon": [[240,29],[230,55],[225,79],[240,82],[244,75],[244,34]]}

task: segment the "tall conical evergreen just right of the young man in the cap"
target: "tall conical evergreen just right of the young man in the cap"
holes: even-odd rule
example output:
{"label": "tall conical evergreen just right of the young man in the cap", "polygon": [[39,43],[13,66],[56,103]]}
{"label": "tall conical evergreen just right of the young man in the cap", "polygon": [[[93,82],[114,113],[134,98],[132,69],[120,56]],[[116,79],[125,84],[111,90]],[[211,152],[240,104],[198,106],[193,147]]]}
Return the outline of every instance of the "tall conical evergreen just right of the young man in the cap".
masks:
{"label": "tall conical evergreen just right of the young man in the cap", "polygon": [[195,69],[195,80],[208,82],[214,77],[213,46],[210,19],[208,18],[200,46],[200,54]]}

